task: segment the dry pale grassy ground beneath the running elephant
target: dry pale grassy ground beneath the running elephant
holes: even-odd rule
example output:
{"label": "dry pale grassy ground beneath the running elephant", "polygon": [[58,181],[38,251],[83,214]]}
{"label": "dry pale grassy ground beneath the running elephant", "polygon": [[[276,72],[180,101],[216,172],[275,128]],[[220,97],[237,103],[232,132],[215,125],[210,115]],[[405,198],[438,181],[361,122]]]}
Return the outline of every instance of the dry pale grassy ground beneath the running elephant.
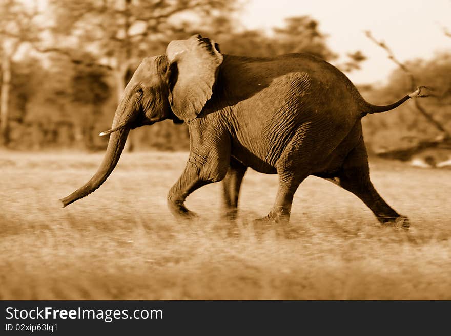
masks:
{"label": "dry pale grassy ground beneath the running elephant", "polygon": [[451,171],[376,161],[376,188],[411,218],[381,227],[359,199],[309,177],[283,239],[257,239],[277,176],[249,171],[240,236],[227,236],[220,185],[177,222],[166,194],[187,153],[124,154],[94,194],[61,208],[102,154],[0,153],[0,299],[451,299]]}

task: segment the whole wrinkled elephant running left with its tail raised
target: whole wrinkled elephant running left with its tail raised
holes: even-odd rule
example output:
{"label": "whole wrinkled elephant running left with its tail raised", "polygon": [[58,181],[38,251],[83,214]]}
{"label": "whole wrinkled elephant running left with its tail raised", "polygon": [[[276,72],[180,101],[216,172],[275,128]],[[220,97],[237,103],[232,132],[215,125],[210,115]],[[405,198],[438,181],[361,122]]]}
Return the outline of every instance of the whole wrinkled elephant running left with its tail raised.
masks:
{"label": "whole wrinkled elephant running left with its tail raised", "polygon": [[264,220],[288,221],[293,195],[309,175],[357,195],[381,223],[408,227],[388,206],[368,174],[361,118],[391,110],[399,101],[367,103],[348,78],[308,54],[273,58],[222,55],[200,35],[173,41],[166,55],[146,58],[125,88],[110,130],[105,158],[83,187],[61,199],[64,206],[92,193],[116,166],[130,129],[164,119],[187,123],[191,151],[171,188],[174,215],[191,216],[184,201],[196,189],[224,181],[224,203],[235,217],[247,167],[279,175],[273,208]]}

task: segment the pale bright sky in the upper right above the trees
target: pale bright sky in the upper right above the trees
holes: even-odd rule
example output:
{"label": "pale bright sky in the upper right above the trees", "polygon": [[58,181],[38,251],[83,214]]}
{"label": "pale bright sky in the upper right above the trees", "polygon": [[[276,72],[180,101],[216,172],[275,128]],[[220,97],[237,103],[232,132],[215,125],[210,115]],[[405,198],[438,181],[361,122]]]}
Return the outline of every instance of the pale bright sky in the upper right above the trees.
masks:
{"label": "pale bright sky in the upper right above the trees", "polygon": [[451,31],[451,0],[249,0],[240,19],[247,28],[270,30],[282,26],[285,17],[301,15],[319,21],[332,51],[365,54],[362,69],[347,74],[357,84],[384,82],[396,68],[365,30],[384,40],[401,61],[451,50],[451,38],[442,31]]}

